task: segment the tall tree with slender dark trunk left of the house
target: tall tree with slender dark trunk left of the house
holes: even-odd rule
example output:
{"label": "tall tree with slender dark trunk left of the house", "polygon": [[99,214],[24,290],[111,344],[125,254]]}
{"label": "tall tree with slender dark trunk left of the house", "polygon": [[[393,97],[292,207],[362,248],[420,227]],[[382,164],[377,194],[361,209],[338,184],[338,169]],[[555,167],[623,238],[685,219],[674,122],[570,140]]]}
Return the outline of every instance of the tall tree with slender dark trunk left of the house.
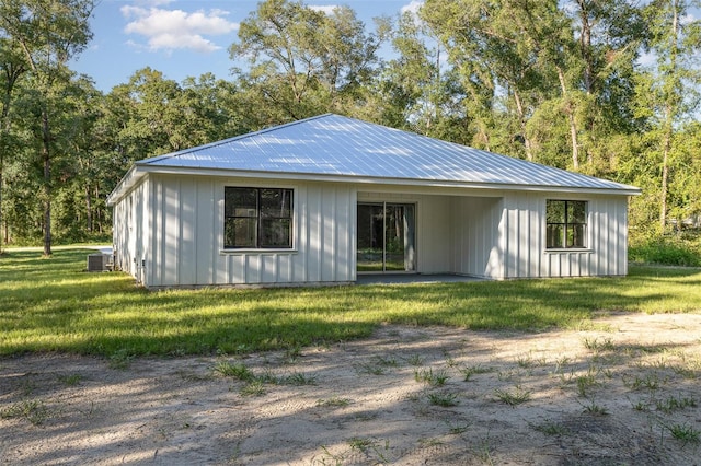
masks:
{"label": "tall tree with slender dark trunk left of the house", "polygon": [[44,255],[51,254],[53,128],[49,102],[70,75],[66,63],[81,53],[92,34],[88,19],[94,0],[22,0],[0,4],[0,32],[16,42],[38,96],[43,163]]}

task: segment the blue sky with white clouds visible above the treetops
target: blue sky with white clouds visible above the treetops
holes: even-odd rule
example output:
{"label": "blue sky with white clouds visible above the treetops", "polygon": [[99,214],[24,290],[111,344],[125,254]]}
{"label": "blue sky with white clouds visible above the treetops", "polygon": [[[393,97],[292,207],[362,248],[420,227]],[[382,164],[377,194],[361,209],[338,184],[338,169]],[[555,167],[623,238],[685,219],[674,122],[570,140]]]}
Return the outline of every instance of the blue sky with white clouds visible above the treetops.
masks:
{"label": "blue sky with white clouds visible above the treetops", "polygon": [[[257,8],[257,0],[101,0],[93,12],[93,39],[71,68],[93,79],[95,86],[113,86],[146,67],[182,82],[206,72],[230,79],[237,63],[229,46],[238,40],[239,24]],[[397,16],[416,9],[420,0],[307,0],[322,10],[350,7],[366,24],[372,18]]]}

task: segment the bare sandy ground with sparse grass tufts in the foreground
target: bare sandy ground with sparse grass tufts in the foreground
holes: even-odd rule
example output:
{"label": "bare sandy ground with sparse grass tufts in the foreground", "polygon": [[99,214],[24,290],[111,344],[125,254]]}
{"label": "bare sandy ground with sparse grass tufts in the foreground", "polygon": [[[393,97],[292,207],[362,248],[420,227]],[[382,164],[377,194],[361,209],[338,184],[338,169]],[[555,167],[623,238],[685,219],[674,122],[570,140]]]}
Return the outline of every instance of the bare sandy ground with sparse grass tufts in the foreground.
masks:
{"label": "bare sandy ground with sparse grass tufts in the foreground", "polygon": [[384,326],[244,357],[25,356],[0,359],[0,388],[11,465],[701,464],[701,315]]}

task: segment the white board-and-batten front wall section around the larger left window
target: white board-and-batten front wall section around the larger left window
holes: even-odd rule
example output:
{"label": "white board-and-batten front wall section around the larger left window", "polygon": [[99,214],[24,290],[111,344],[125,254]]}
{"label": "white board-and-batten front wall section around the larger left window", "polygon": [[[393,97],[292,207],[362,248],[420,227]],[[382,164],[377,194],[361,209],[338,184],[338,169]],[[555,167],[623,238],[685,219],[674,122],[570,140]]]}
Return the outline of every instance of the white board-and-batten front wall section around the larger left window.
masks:
{"label": "white board-and-batten front wall section around the larger left window", "polygon": [[[175,175],[149,180],[143,214],[153,234],[141,251],[149,288],[355,281],[356,196],[349,185]],[[225,249],[227,186],[294,189],[292,248]]]}

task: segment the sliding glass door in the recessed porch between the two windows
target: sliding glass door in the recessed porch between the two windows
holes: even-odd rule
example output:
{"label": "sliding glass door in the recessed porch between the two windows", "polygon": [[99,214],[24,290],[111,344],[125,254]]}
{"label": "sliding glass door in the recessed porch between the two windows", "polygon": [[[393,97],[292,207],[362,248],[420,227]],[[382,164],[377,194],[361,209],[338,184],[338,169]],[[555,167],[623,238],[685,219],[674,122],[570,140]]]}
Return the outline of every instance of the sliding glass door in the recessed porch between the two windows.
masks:
{"label": "sliding glass door in the recessed porch between the two windows", "polygon": [[358,203],[358,271],[414,271],[415,206]]}

